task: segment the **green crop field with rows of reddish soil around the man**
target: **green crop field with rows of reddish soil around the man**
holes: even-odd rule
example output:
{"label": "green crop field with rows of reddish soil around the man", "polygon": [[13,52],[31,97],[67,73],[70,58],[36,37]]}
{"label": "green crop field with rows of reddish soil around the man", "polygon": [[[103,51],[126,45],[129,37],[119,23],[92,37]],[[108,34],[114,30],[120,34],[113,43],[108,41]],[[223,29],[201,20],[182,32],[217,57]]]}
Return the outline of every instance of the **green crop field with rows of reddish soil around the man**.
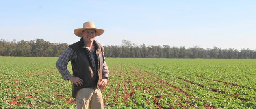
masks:
{"label": "green crop field with rows of reddish soil around the man", "polygon": [[[76,108],[58,57],[0,57],[0,107]],[[104,108],[256,109],[256,59],[106,58]],[[68,69],[72,74],[71,64]]]}

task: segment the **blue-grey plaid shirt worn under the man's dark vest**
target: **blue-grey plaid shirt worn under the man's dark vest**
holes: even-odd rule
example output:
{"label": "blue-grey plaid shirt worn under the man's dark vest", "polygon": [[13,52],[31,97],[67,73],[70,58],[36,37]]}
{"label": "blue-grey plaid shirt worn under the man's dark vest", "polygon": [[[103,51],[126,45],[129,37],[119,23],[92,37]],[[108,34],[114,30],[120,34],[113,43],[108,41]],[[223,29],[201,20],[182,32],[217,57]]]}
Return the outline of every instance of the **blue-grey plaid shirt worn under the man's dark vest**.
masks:
{"label": "blue-grey plaid shirt worn under the man's dark vest", "polygon": [[[89,49],[87,48],[87,50],[89,50]],[[94,53],[94,50],[92,52]],[[89,50],[89,55],[91,55],[91,61],[92,61],[93,68],[94,68],[93,72],[96,72],[96,65],[95,65],[95,61],[94,61],[95,55],[93,55],[93,53],[91,53]],[[56,67],[59,70],[59,72],[64,80],[68,80],[70,77],[72,77],[69,70],[67,70],[67,65],[68,65],[69,61],[76,60],[76,58],[77,58],[76,52],[74,52],[74,50],[69,47],[63,54],[61,54],[61,56],[57,60]],[[104,53],[103,53],[103,58],[105,58]],[[109,75],[108,66],[107,66],[106,61],[104,61],[103,70],[102,70],[102,78],[108,79],[108,75]]]}

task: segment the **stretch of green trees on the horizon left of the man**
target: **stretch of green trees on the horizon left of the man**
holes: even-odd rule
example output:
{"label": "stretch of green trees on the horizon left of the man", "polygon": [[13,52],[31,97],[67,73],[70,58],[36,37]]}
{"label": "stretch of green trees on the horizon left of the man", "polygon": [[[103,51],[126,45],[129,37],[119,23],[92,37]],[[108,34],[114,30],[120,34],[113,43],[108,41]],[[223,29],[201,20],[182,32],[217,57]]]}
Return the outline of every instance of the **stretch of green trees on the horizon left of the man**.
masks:
{"label": "stretch of green trees on the horizon left of the man", "polygon": [[0,40],[1,56],[32,56],[32,57],[59,57],[67,48],[67,43],[50,43],[43,39],[30,41]]}

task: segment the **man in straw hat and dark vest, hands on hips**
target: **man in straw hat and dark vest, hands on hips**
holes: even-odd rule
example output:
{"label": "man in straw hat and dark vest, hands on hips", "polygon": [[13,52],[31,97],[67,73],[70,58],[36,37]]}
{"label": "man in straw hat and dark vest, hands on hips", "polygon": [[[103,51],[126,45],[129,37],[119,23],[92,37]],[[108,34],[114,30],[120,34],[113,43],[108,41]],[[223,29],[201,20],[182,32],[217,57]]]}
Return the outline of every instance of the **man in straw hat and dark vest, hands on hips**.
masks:
{"label": "man in straw hat and dark vest, hands on hips", "polygon": [[[88,106],[90,109],[103,109],[100,88],[107,85],[109,71],[104,48],[94,40],[103,32],[93,22],[83,23],[83,28],[74,30],[74,34],[81,37],[80,41],[69,45],[56,62],[63,79],[73,83],[72,97],[76,98],[77,109],[87,109]],[[67,70],[69,61],[73,75]]]}

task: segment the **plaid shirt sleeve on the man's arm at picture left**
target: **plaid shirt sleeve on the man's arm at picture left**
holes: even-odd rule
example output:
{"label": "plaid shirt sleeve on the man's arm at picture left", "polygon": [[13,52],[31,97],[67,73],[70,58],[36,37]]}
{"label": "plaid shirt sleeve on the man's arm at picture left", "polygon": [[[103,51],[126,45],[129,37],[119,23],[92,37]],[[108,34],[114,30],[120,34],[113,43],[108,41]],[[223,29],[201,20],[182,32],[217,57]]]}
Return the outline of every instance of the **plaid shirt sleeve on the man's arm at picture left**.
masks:
{"label": "plaid shirt sleeve on the man's arm at picture left", "polygon": [[72,75],[69,70],[67,70],[67,65],[70,60],[76,59],[76,52],[72,48],[67,48],[67,50],[61,54],[57,62],[55,63],[56,68],[59,70],[59,73],[63,77],[64,80],[69,80]]}

